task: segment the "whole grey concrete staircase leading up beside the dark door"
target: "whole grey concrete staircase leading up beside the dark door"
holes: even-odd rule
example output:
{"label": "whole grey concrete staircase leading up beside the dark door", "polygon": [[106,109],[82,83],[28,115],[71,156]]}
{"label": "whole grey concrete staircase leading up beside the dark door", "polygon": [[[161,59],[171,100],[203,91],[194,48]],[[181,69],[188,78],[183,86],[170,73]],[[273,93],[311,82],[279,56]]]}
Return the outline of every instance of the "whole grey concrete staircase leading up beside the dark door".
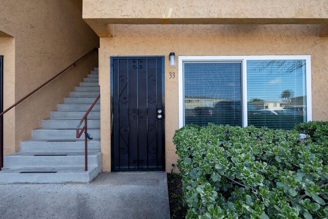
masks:
{"label": "whole grey concrete staircase leading up beside the dark door", "polygon": [[[100,93],[98,68],[32,130],[32,139],[21,142],[21,151],[4,157],[0,184],[89,183],[101,172],[100,100],[88,115],[88,171],[84,171],[84,135],[76,139],[76,126]],[[83,124],[81,125],[83,127]]]}

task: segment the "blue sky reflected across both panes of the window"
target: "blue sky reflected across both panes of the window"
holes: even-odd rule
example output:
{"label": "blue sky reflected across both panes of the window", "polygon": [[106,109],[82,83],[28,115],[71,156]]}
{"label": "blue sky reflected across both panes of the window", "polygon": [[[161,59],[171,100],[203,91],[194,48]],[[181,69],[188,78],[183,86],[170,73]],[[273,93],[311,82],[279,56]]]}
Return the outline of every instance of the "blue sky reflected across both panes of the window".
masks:
{"label": "blue sky reflected across both panes of the window", "polygon": [[[282,101],[306,95],[305,60],[249,60],[247,101]],[[241,100],[241,62],[184,63],[185,97]]]}

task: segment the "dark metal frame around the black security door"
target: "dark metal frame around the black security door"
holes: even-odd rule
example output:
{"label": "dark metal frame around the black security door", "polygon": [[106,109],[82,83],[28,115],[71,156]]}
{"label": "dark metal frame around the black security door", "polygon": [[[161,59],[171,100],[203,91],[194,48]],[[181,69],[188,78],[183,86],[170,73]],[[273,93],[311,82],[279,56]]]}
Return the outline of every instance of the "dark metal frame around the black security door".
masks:
{"label": "dark metal frame around the black security door", "polygon": [[[110,66],[111,66],[111,169],[114,171],[114,59],[152,59],[152,58],[161,58],[162,65],[162,74],[161,74],[161,101],[163,109],[165,110],[165,56],[111,56]],[[129,79],[128,79],[129,80]],[[165,120],[163,120],[163,130],[162,130],[162,166],[163,171],[166,170],[166,160],[165,160]],[[125,170],[125,171],[134,171],[134,170]],[[140,170],[138,170],[140,171]]]}

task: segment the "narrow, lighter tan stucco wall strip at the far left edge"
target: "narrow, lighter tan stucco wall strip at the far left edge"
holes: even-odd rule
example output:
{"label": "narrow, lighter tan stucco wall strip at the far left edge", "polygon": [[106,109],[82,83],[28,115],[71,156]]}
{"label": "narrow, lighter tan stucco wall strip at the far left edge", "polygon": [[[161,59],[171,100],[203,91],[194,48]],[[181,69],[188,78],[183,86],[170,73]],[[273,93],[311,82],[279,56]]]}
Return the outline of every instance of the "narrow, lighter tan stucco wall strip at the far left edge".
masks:
{"label": "narrow, lighter tan stucco wall strip at the far left edge", "polygon": [[[0,55],[4,56],[4,110],[15,103],[15,38],[0,37]],[[15,152],[15,109],[4,115],[4,155]]]}

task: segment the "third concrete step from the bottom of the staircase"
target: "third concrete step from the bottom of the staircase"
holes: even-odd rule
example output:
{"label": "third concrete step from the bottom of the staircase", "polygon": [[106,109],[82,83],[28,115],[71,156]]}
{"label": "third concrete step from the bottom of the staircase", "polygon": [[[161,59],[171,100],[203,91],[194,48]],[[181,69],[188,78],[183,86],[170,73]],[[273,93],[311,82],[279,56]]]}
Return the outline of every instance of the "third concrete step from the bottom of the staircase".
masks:
{"label": "third concrete step from the bottom of the staircase", "polygon": [[[30,139],[20,143],[21,151],[84,151],[84,136],[80,139]],[[100,139],[88,140],[88,151],[100,152]]]}

